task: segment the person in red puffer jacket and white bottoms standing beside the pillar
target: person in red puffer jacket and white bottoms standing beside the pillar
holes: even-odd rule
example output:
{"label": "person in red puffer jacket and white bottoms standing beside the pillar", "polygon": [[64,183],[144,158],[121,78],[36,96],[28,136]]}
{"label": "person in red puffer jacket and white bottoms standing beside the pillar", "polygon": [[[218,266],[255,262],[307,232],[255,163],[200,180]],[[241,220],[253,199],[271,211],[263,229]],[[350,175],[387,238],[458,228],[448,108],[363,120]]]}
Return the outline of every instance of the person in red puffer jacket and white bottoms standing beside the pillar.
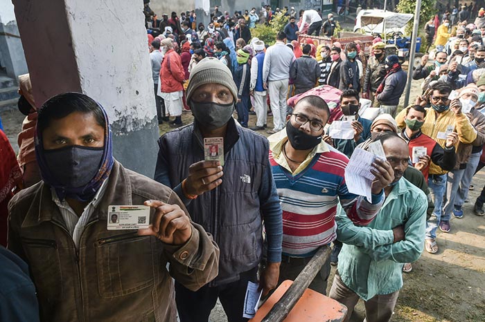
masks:
{"label": "person in red puffer jacket and white bottoms standing beside the pillar", "polygon": [[184,96],[185,73],[182,59],[173,50],[173,40],[170,38],[160,42],[160,49],[165,53],[160,69],[161,98],[164,99],[170,116],[175,116],[170,127],[179,127],[182,126],[182,106],[184,105],[182,96]]}

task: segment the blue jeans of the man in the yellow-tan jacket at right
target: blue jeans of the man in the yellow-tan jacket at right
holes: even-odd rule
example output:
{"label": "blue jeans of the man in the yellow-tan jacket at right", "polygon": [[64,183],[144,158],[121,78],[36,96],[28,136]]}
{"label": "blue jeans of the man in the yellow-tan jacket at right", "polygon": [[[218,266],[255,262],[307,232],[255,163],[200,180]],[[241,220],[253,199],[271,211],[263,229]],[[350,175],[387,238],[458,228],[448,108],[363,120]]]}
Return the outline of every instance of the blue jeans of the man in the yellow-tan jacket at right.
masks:
{"label": "blue jeans of the man in the yellow-tan jacket at right", "polygon": [[427,220],[426,238],[436,238],[436,229],[438,228],[438,224],[441,220],[443,198],[446,192],[446,177],[446,174],[430,174],[427,180],[427,187],[430,188],[430,193],[434,203],[433,215],[436,216],[436,219],[430,218],[430,220]]}

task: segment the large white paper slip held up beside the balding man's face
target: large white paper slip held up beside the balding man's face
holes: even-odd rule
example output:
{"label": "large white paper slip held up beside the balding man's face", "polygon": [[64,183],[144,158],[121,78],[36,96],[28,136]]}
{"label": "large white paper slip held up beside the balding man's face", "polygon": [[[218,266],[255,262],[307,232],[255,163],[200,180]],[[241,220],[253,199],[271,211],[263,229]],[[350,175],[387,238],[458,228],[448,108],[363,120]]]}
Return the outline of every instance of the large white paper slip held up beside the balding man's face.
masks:
{"label": "large white paper slip held up beside the balding man's face", "polygon": [[360,148],[355,148],[351,160],[345,168],[345,182],[350,193],[372,198],[372,181],[376,179],[371,173],[372,162],[376,160],[376,155]]}

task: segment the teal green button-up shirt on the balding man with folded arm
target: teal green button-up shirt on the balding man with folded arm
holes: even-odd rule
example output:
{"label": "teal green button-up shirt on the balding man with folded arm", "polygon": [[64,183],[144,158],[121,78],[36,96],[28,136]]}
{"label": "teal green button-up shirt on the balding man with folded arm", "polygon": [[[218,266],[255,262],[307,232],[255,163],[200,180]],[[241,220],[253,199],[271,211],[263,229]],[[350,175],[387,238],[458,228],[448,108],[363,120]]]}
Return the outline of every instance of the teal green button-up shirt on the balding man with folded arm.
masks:
{"label": "teal green button-up shirt on the balding man with folded arm", "polygon": [[[414,184],[401,178],[367,227],[351,222],[339,207],[337,239],[344,245],[338,272],[344,284],[364,301],[403,287],[403,264],[416,261],[425,241],[427,199]],[[392,229],[403,225],[405,240],[393,243]]]}

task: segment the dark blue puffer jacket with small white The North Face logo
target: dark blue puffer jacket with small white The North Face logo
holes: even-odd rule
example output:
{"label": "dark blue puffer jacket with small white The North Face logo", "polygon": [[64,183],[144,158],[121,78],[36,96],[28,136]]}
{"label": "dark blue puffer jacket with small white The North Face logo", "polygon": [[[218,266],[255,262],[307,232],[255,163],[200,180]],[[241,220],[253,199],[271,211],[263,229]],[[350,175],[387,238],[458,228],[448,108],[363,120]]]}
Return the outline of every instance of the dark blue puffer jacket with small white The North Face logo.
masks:
{"label": "dark blue puffer jacket with small white The North Face logo", "polygon": [[258,266],[263,255],[263,221],[267,260],[279,263],[283,221],[267,139],[236,125],[232,117],[224,137],[222,184],[194,200],[185,198],[181,183],[189,167],[204,160],[203,142],[197,123],[162,135],[155,180],[173,187],[192,220],[220,245],[219,275],[209,284],[215,286],[237,281],[241,273]]}

